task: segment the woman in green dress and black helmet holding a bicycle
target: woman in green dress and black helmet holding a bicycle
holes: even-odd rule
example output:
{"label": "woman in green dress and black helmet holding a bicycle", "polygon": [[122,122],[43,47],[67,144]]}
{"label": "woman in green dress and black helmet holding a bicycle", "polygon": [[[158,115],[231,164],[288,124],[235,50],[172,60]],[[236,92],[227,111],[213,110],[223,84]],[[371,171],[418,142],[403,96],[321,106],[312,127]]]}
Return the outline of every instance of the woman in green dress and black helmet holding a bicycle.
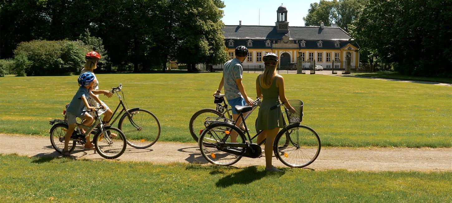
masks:
{"label": "woman in green dress and black helmet holding a bicycle", "polygon": [[281,108],[271,110],[272,106],[279,104],[279,100],[284,102],[284,106],[292,113],[295,109],[287,102],[284,94],[284,78],[276,74],[276,66],[278,64],[278,56],[274,53],[266,53],[262,58],[265,64],[264,73],[260,74],[256,79],[257,97],[262,99],[259,107],[259,114],[256,119],[256,130],[264,131],[257,139],[256,143],[265,141],[265,170],[279,172],[272,165],[273,142],[282,124]]}

